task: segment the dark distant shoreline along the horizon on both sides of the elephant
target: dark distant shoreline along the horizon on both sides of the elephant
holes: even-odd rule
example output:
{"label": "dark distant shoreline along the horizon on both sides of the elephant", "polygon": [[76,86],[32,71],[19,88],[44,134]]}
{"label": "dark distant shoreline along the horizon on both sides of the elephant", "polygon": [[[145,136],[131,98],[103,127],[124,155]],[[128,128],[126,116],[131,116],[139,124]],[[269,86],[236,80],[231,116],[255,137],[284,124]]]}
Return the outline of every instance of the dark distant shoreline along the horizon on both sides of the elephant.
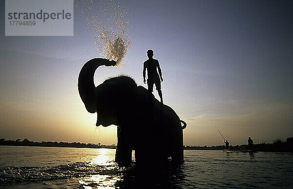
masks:
{"label": "dark distant shoreline along the horizon on both sides of the elephant", "polygon": [[[67,143],[67,142],[34,142],[29,141],[28,139],[24,139],[20,141],[0,139],[0,146],[16,146],[16,147],[75,147],[75,148],[109,148],[116,149],[116,145],[102,145],[102,144],[85,144],[79,142]],[[239,150],[242,147],[247,148],[247,145],[237,145],[230,146],[231,150]],[[184,146],[184,150],[223,150],[226,149],[224,145],[222,146]],[[278,142],[278,143],[268,143],[268,144],[255,144],[253,145],[253,149],[256,151],[263,152],[293,152],[293,144],[292,142]]]}

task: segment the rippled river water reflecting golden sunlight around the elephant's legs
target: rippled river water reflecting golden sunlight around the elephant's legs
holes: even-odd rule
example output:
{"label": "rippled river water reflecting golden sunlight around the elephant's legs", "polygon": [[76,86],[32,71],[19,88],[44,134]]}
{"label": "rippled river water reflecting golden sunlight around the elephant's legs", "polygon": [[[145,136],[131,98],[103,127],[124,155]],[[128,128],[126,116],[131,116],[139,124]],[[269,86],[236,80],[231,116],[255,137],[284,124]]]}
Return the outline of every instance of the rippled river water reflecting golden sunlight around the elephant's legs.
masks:
{"label": "rippled river water reflecting golden sunlight around the elephant's legs", "polygon": [[0,188],[293,188],[293,153],[185,150],[181,166],[147,170],[114,159],[115,149],[0,146]]}

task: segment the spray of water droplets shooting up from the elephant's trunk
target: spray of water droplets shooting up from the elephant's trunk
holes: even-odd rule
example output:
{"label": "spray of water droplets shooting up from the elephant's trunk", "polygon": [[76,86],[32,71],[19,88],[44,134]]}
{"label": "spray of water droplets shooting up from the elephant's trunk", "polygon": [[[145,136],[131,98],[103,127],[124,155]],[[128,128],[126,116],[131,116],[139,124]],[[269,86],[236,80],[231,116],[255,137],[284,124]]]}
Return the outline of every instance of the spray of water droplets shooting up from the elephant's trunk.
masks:
{"label": "spray of water droplets shooting up from the elephant's trunk", "polygon": [[87,21],[100,56],[115,60],[116,66],[123,66],[132,42],[126,7],[118,0],[77,0],[75,10]]}

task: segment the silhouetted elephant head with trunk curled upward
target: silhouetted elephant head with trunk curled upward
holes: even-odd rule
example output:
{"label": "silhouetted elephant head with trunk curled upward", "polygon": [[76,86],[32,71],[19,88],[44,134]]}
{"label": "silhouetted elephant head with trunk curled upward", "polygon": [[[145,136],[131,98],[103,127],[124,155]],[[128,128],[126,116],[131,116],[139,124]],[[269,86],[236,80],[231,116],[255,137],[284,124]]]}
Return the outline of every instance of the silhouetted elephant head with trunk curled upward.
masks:
{"label": "silhouetted elephant head with trunk curled upward", "polygon": [[[85,108],[90,113],[97,112],[96,126],[119,125],[126,115],[125,107],[131,100],[129,88],[136,87],[133,79],[119,76],[105,80],[95,87],[94,74],[99,66],[114,66],[115,61],[94,58],[87,61],[80,71],[78,90]],[[123,100],[122,100],[123,99]],[[131,104],[131,103],[130,103]],[[128,108],[127,108],[128,109]]]}

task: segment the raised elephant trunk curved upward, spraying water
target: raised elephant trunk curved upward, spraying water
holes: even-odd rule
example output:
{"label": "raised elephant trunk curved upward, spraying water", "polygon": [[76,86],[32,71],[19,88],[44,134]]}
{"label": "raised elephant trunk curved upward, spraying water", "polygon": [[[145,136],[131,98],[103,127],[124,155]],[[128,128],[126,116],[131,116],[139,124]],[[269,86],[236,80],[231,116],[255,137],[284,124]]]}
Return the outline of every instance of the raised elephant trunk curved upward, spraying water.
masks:
{"label": "raised elephant trunk curved upward, spraying water", "polygon": [[97,111],[94,75],[96,69],[101,65],[114,66],[116,62],[102,58],[91,59],[84,64],[78,76],[78,91],[89,113]]}

